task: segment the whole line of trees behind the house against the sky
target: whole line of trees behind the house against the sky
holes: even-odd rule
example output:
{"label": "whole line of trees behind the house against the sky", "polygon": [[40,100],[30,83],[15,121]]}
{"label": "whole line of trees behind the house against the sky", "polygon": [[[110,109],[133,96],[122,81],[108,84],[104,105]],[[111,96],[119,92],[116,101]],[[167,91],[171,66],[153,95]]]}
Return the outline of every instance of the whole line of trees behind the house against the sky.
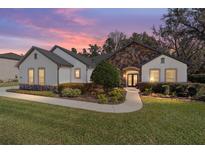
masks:
{"label": "whole line of trees behind the house against the sky", "polygon": [[[131,41],[138,41],[189,63],[188,73],[205,73],[205,9],[168,9],[162,24],[153,27],[153,35],[134,32],[127,37],[115,31],[102,47],[90,44],[78,52],[87,57],[111,53]],[[75,48],[72,51],[77,52]]]}

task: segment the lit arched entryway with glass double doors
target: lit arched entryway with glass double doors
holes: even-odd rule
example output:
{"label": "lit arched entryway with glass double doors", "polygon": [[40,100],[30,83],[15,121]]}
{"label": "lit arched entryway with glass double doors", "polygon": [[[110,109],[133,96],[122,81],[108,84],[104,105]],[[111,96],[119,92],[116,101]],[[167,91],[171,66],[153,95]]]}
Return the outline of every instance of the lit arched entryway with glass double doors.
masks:
{"label": "lit arched entryway with glass double doors", "polygon": [[137,67],[126,67],[122,70],[123,82],[126,87],[135,87],[140,81],[140,69]]}

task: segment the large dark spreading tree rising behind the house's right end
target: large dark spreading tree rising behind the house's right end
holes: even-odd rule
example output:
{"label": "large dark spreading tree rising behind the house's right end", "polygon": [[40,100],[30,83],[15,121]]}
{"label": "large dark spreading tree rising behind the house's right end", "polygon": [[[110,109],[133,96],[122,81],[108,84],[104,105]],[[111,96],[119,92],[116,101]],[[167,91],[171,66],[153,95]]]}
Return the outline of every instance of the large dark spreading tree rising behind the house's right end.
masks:
{"label": "large dark spreading tree rising behind the house's right end", "polygon": [[155,36],[163,43],[169,54],[189,62],[189,73],[199,72],[204,65],[205,31],[202,9],[168,9],[163,24],[154,28]]}

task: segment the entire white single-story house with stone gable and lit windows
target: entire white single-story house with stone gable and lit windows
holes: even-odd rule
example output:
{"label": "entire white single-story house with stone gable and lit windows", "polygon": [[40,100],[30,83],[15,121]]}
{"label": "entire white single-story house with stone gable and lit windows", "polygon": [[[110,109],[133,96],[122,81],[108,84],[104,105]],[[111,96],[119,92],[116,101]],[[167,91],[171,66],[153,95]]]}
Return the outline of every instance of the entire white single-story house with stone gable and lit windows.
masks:
{"label": "entire white single-story house with stone gable and lit windows", "polygon": [[17,64],[19,82],[49,86],[89,83],[92,71],[103,60],[120,70],[124,86],[135,86],[138,82],[187,82],[186,63],[136,41],[94,58],[57,45],[50,51],[32,47]]}

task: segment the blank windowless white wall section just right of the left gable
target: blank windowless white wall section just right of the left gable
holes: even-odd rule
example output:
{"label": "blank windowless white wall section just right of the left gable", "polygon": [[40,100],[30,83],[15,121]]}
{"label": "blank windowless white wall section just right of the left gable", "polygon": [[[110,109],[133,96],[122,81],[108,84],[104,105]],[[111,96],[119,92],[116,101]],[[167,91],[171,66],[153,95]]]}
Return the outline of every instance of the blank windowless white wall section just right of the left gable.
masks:
{"label": "blank windowless white wall section just right of the left gable", "polygon": [[61,67],[59,69],[59,83],[69,83],[71,82],[71,68]]}

